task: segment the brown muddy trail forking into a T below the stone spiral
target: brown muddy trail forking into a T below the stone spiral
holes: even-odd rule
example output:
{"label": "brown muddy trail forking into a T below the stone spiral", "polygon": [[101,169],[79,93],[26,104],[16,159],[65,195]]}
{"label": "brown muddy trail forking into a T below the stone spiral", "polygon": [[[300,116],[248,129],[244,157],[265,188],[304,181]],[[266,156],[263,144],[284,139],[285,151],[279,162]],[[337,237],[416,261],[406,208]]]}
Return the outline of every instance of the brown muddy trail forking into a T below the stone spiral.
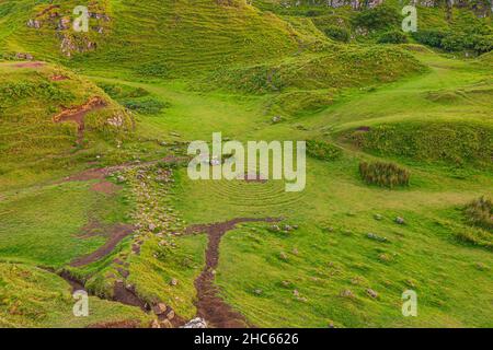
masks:
{"label": "brown muddy trail forking into a T below the stone spiral", "polygon": [[219,261],[219,245],[222,236],[245,222],[278,222],[279,219],[249,219],[238,218],[227,222],[194,225],[186,230],[187,234],[207,233],[208,245],[206,250],[206,265],[195,280],[197,291],[197,316],[204,318],[210,327],[215,328],[244,328],[252,327],[243,315],[234,311],[220,298],[220,290],[215,285],[215,269]]}

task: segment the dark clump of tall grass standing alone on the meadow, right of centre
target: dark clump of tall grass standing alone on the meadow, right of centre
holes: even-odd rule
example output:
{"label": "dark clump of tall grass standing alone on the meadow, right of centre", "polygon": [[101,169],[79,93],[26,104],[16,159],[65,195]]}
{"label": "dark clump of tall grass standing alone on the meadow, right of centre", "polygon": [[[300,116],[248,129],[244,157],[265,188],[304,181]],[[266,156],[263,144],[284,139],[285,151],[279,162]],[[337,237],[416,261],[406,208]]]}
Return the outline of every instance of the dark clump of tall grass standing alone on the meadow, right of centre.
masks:
{"label": "dark clump of tall grass standing alone on the meadow, right of centre", "polygon": [[393,163],[359,163],[359,173],[367,184],[393,188],[408,186],[411,174],[408,170]]}

